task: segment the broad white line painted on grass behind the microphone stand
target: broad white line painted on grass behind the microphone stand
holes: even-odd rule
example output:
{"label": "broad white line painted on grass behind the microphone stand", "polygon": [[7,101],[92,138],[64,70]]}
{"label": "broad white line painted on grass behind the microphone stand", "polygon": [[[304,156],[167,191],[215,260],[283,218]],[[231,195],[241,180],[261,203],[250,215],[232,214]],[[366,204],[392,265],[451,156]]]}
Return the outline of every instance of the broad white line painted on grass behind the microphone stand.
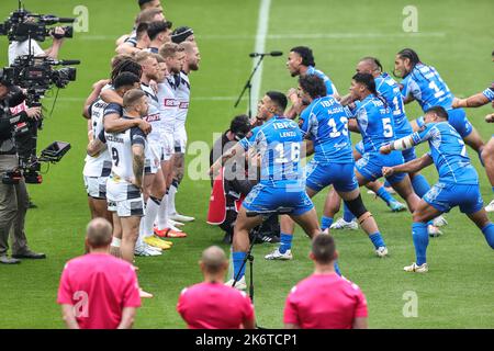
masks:
{"label": "broad white line painted on grass behind the microphone stand", "polygon": [[[260,0],[259,4],[259,18],[257,20],[257,35],[256,35],[256,46],[254,48],[255,53],[263,53],[266,48],[266,36],[268,34],[269,25],[269,9],[271,8],[271,0]],[[256,67],[259,58],[252,60],[252,69]],[[252,100],[250,101],[250,110],[252,116],[256,115],[257,101],[259,99],[259,91],[262,81],[262,64],[260,64],[256,76],[252,78]],[[248,98],[248,97],[247,97]]]}

